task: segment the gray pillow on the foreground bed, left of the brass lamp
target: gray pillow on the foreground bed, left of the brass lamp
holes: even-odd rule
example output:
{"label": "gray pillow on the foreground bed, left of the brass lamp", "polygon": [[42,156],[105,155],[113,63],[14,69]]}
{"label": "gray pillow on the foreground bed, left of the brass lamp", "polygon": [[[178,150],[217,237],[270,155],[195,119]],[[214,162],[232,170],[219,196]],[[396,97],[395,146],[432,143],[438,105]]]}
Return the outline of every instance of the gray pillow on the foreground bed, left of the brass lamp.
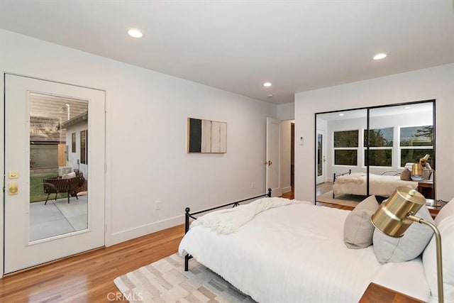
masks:
{"label": "gray pillow on the foreground bed, left of the brass lamp", "polygon": [[375,196],[367,197],[348,214],[343,225],[343,241],[348,248],[366,248],[372,245],[375,227],[370,222],[378,209]]}

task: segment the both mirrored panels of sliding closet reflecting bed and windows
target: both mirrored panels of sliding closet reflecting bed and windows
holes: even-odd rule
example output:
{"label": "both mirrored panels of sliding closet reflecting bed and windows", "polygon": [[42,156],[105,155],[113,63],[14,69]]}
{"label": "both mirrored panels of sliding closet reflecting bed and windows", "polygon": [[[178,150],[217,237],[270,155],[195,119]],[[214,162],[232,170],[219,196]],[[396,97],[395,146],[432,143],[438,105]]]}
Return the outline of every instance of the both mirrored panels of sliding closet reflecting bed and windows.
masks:
{"label": "both mirrored panels of sliding closet reflecting bed and windows", "polygon": [[316,114],[317,133],[326,132],[327,147],[323,179],[316,153],[316,201],[355,206],[375,194],[380,202],[405,186],[433,202],[433,107],[427,101],[373,107],[369,114],[367,109]]}

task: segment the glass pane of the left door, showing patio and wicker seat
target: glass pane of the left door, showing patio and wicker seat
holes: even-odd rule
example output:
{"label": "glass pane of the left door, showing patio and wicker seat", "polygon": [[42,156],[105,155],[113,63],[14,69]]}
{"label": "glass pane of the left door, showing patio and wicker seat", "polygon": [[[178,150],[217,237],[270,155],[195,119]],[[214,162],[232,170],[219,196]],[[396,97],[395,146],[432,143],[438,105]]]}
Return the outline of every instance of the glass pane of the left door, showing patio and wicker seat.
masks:
{"label": "glass pane of the left door, showing patio and wicker seat", "polygon": [[88,228],[88,101],[29,94],[30,241]]}

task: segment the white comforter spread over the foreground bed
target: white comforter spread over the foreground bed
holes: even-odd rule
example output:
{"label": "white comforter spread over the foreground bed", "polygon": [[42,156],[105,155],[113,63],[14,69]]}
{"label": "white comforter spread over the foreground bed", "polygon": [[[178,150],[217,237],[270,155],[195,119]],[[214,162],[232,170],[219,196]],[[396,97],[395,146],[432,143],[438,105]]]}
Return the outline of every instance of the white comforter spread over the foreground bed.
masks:
{"label": "white comforter spread over the foreground bed", "polygon": [[358,302],[370,282],[378,279],[383,285],[389,275],[402,278],[384,286],[428,301],[421,260],[405,263],[412,275],[402,276],[401,268],[380,265],[372,246],[345,246],[348,213],[292,203],[256,214],[234,233],[194,226],[179,253],[191,254],[260,303]]}

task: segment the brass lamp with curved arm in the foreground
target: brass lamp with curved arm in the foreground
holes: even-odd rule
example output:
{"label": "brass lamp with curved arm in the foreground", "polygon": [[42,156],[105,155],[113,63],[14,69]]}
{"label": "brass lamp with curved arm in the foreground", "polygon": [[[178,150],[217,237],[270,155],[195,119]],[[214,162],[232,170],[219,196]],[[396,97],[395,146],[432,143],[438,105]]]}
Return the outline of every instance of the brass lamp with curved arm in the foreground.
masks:
{"label": "brass lamp with curved arm in the foreground", "polygon": [[372,215],[372,224],[383,233],[394,238],[404,236],[407,228],[418,222],[432,228],[436,236],[438,302],[443,302],[443,266],[441,259],[441,234],[431,222],[414,216],[426,204],[426,198],[416,189],[397,187],[391,197]]}

